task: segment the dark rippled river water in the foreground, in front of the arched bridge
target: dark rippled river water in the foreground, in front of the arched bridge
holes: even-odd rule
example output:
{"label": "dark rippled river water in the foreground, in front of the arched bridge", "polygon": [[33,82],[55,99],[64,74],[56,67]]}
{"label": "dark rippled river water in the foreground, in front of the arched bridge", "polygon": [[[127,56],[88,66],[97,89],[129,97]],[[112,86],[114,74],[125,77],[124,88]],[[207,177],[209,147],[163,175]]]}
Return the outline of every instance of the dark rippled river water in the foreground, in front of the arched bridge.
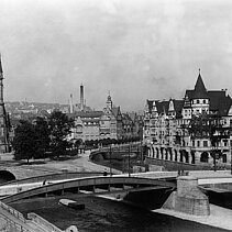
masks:
{"label": "dark rippled river water in the foreground, in front of the arched bridge", "polygon": [[[73,196],[73,197],[71,197]],[[68,225],[77,225],[79,232],[225,232],[195,222],[141,210],[121,202],[111,201],[93,196],[75,198],[74,195],[63,196],[86,205],[85,210],[74,210],[58,205],[59,198],[47,198],[26,200],[24,202],[11,203],[23,213],[33,211],[62,230]]]}

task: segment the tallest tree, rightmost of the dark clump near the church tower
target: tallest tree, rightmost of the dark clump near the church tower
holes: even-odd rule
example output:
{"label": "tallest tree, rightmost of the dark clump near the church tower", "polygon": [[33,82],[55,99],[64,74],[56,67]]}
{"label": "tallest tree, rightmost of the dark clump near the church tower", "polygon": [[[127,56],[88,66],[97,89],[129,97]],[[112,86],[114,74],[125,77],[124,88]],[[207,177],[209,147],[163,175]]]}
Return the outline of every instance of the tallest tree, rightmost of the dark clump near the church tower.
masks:
{"label": "tallest tree, rightmost of the dark clump near the church tower", "polygon": [[62,111],[53,111],[48,118],[48,126],[51,131],[51,148],[53,155],[57,158],[59,155],[66,155],[66,148],[69,147],[67,135],[74,126],[74,120],[69,119]]}

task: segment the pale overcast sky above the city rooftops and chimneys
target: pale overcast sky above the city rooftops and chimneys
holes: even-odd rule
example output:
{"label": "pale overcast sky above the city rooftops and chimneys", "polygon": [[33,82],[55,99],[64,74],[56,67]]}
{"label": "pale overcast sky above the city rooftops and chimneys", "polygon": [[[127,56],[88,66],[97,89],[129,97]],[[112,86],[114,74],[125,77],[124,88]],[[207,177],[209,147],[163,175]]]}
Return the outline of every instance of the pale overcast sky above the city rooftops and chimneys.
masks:
{"label": "pale overcast sky above the city rooftops and chimneys", "polygon": [[232,1],[0,0],[5,101],[79,102],[122,110],[181,99],[201,68],[232,93]]}

